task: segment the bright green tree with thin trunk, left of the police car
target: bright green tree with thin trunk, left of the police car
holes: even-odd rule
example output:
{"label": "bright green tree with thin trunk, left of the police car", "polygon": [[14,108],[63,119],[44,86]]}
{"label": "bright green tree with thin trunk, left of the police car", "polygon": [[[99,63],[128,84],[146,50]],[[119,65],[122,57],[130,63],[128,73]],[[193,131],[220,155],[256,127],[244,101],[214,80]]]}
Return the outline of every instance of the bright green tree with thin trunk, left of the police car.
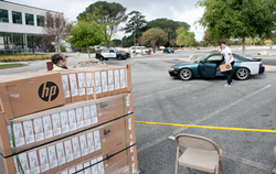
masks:
{"label": "bright green tree with thin trunk, left of the police car", "polygon": [[98,45],[104,40],[105,28],[96,21],[78,21],[73,28],[66,40],[71,47],[87,47],[88,57],[89,46]]}

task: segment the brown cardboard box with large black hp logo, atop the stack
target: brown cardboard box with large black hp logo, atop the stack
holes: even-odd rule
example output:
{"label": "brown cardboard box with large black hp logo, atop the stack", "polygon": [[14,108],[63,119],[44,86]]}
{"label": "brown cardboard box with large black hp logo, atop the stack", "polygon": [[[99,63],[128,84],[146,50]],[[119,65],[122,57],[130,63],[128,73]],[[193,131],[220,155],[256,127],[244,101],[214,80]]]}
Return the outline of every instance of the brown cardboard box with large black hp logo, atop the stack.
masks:
{"label": "brown cardboard box with large black hp logo, atop the stack", "polygon": [[64,105],[61,75],[35,72],[1,76],[0,99],[7,119]]}

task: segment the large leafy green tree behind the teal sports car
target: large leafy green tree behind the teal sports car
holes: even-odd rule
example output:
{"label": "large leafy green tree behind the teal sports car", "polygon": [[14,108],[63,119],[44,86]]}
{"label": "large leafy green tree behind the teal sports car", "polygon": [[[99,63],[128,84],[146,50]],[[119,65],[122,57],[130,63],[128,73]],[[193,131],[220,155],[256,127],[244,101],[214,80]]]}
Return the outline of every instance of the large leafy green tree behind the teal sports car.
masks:
{"label": "large leafy green tree behind the teal sports car", "polygon": [[241,37],[243,55],[245,37],[269,37],[275,30],[275,0],[199,0],[197,7],[205,8],[197,23],[215,40]]}

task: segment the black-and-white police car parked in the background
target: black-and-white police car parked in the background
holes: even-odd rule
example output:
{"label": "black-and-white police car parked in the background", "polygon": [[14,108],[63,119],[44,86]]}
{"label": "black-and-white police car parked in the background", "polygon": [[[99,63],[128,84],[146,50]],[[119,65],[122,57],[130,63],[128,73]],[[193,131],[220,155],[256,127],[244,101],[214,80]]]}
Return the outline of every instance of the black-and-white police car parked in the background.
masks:
{"label": "black-and-white police car parked in the background", "polygon": [[97,50],[95,55],[95,58],[99,61],[108,61],[109,58],[127,59],[129,57],[129,53],[120,52],[117,48]]}

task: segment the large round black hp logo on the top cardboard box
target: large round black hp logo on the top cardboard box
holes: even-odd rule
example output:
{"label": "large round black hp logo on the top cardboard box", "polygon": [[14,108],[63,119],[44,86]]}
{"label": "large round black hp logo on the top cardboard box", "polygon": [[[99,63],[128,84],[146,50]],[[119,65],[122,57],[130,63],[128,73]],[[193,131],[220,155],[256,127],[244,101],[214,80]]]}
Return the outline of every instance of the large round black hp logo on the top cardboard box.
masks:
{"label": "large round black hp logo on the top cardboard box", "polygon": [[59,96],[59,87],[55,83],[43,83],[39,88],[39,96],[44,101],[53,101]]}

